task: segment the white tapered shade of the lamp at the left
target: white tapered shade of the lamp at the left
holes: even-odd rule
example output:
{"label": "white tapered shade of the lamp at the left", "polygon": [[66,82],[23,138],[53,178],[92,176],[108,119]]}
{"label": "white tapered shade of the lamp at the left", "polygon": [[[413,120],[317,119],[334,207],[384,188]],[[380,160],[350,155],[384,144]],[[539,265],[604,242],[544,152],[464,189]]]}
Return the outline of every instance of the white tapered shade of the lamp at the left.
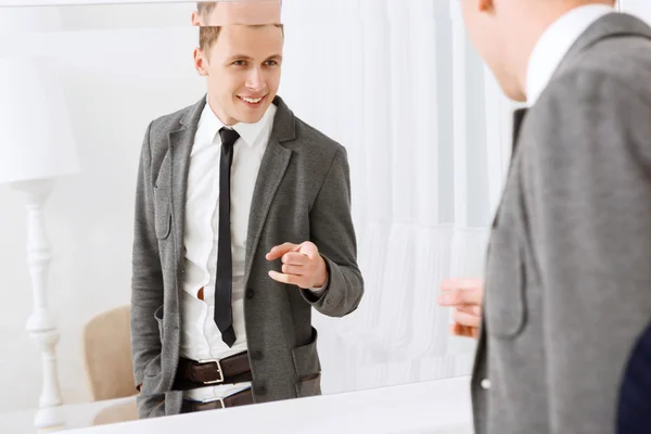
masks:
{"label": "white tapered shade of the lamp at the left", "polygon": [[79,170],[55,62],[0,58],[0,183]]}

